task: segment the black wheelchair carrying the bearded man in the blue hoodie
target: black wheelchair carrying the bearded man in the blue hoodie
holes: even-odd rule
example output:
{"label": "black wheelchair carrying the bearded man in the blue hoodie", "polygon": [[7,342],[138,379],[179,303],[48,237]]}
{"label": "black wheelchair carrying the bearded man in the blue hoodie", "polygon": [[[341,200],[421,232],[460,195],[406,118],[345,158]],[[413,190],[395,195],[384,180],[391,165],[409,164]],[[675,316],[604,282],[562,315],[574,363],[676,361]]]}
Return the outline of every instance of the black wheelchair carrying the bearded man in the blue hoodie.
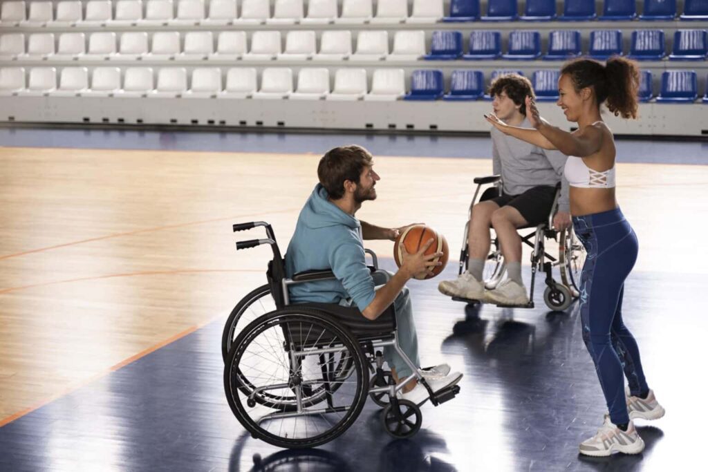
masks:
{"label": "black wheelchair carrying the bearded man in the blue hoodie", "polygon": [[[251,434],[285,448],[308,448],[335,439],[356,420],[367,397],[383,407],[381,422],[392,437],[408,438],[421,428],[421,410],[396,393],[413,379],[438,406],[459,386],[433,392],[396,338],[396,313],[389,306],[375,321],[358,309],[336,304],[290,304],[288,287],[333,280],[330,270],[300,272],[288,279],[273,228],[265,221],[234,224],[234,231],[264,226],[266,238],[239,241],[236,249],[268,244],[273,260],[268,283],[246,295],[224,327],[224,391],[236,419]],[[375,254],[371,253],[377,270]],[[265,292],[265,288],[268,292]],[[273,301],[273,310],[253,316]],[[249,307],[256,307],[249,313]],[[270,308],[270,307],[269,307]],[[238,321],[251,316],[249,323]],[[393,347],[413,374],[399,385],[383,369],[382,347]]]}

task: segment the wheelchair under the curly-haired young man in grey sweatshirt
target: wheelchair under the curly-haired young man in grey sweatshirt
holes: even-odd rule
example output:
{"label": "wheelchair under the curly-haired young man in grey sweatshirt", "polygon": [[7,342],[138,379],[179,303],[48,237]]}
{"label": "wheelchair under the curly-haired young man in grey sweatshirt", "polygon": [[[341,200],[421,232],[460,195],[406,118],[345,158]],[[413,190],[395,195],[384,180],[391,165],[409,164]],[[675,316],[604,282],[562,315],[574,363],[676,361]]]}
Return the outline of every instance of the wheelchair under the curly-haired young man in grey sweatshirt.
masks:
{"label": "wheelchair under the curly-haired young man in grey sweatshirt", "polygon": [[[491,200],[494,197],[501,195],[501,175],[488,175],[485,177],[474,178],[474,183],[477,185],[472,197],[472,203],[469,204],[467,213],[467,223],[464,225],[464,236],[462,236],[462,250],[459,254],[459,270],[458,274],[462,274],[467,270],[467,262],[469,260],[469,241],[467,235],[469,231],[469,221],[472,218],[472,209],[477,202]],[[490,186],[491,185],[491,186]],[[487,186],[484,192],[481,189]],[[481,194],[480,194],[481,192]],[[543,294],[543,299],[549,309],[553,311],[564,311],[567,309],[574,299],[580,295],[578,286],[580,284],[580,276],[585,263],[586,251],[583,244],[578,240],[573,231],[573,226],[563,231],[552,229],[552,221],[556,209],[558,207],[558,197],[560,195],[560,184],[556,185],[556,196],[552,205],[551,213],[546,221],[537,226],[523,226],[519,230],[532,229],[528,234],[521,235],[521,241],[533,248],[531,252],[531,284],[529,288],[529,303],[523,306],[513,306],[513,308],[534,308],[533,294],[536,282],[537,272],[542,271],[546,274],[546,289]],[[553,255],[546,251],[546,240],[553,240],[558,243],[558,253]],[[561,281],[556,282],[553,278],[553,267],[558,267]],[[498,238],[492,238],[492,250],[486,258],[484,265],[484,286],[486,289],[494,289],[501,282],[506,265],[504,257],[501,253],[501,246]],[[462,297],[452,297],[455,301],[464,301],[467,304],[482,303],[480,300],[466,299]],[[497,305],[507,307],[506,305]]]}

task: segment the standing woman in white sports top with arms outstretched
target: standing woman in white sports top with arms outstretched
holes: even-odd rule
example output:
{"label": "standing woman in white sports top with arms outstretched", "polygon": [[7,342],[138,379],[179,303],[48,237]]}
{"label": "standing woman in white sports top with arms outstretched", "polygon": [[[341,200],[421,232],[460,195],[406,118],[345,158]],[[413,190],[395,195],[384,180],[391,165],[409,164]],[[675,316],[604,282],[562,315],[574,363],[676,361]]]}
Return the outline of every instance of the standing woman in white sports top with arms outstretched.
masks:
{"label": "standing woman in white sports top with arms outstretched", "polygon": [[634,267],[639,245],[615,200],[615,140],[600,116],[600,105],[607,103],[615,116],[636,118],[638,86],[639,69],[628,59],[613,57],[606,65],[577,59],[561,69],[556,103],[569,121],[578,123],[576,131],[565,132],[543,120],[530,97],[526,108],[534,129],[486,116],[501,132],[568,156],[565,175],[573,226],[588,253],[579,304],[583,340],[610,412],[598,433],[580,444],[581,454],[588,456],[609,456],[612,451],[639,454],[644,441],[632,419],[656,420],[664,414],[644,379],[636,341],[622,322],[624,280]]}

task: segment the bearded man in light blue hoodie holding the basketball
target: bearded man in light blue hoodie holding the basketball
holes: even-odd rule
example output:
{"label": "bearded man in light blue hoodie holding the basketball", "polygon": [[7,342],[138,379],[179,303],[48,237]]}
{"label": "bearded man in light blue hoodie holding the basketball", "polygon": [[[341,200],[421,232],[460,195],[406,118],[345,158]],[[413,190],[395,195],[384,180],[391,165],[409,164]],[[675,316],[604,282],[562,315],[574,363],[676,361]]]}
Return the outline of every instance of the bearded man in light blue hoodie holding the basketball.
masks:
{"label": "bearded man in light blue hoodie holding the basketball", "polygon": [[[364,221],[355,214],[363,202],[376,199],[379,175],[373,169],[372,156],[360,146],[331,149],[319,161],[319,184],[312,191],[297,219],[295,234],[285,255],[285,272],[292,277],[304,270],[331,269],[336,280],[295,284],[290,287],[293,304],[321,302],[356,306],[362,316],[375,320],[391,304],[396,309],[398,343],[411,362],[420,369],[418,337],[413,323],[413,311],[408,280],[437,265],[433,259],[440,253],[424,255],[432,239],[416,254],[404,255],[404,262],[395,274],[378,273],[375,281],[366,265],[363,239],[394,240],[400,229],[385,229]],[[378,283],[377,283],[378,282]],[[377,284],[383,284],[376,289]],[[413,371],[392,347],[384,348],[396,383]],[[422,370],[421,374],[433,391],[459,382],[462,374],[450,373],[447,364]],[[421,404],[428,391],[416,380],[402,389],[401,398]]]}

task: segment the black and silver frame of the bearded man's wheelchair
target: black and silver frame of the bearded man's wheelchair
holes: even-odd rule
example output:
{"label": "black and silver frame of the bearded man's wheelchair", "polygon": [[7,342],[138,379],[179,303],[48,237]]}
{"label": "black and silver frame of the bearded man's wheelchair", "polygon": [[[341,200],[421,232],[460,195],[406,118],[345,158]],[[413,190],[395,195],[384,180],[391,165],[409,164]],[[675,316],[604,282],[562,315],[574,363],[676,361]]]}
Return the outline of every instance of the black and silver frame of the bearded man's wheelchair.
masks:
{"label": "black and silver frame of the bearded man's wheelchair", "polygon": [[[236,404],[236,401],[234,401],[234,394],[238,395],[238,393],[234,393],[234,388],[232,388],[232,364],[235,362],[235,358],[238,355],[237,350],[239,350],[239,342],[242,340],[241,338],[244,337],[244,333],[251,333],[254,329],[256,329],[257,323],[260,321],[261,323],[265,322],[265,319],[268,317],[277,317],[278,313],[286,313],[285,318],[287,318],[287,312],[290,311],[297,311],[298,309],[302,310],[302,313],[320,313],[320,315],[328,316],[328,322],[332,323],[334,326],[336,326],[337,330],[341,330],[342,333],[346,333],[346,335],[350,338],[350,343],[358,347],[358,355],[360,356],[360,359],[362,360],[367,367],[369,367],[369,370],[373,372],[373,376],[370,381],[365,381],[365,388],[367,389],[368,395],[377,403],[377,405],[384,407],[384,411],[382,413],[382,418],[384,422],[384,427],[387,430],[389,434],[391,434],[394,437],[411,437],[413,434],[415,434],[418,429],[420,428],[421,425],[421,412],[420,408],[418,405],[415,405],[411,403],[410,401],[406,400],[399,400],[399,398],[396,396],[396,393],[401,391],[402,388],[406,384],[409,384],[409,382],[413,381],[413,379],[417,379],[418,382],[420,382],[427,390],[428,390],[428,395],[430,398],[431,403],[433,405],[438,406],[440,403],[444,403],[445,401],[448,401],[457,395],[459,393],[459,386],[454,385],[454,386],[449,386],[447,388],[443,388],[440,391],[433,392],[432,389],[430,388],[428,382],[426,381],[425,377],[423,374],[420,372],[420,369],[411,362],[411,359],[401,350],[401,347],[399,346],[398,343],[398,337],[397,337],[397,330],[396,330],[396,316],[395,316],[395,311],[394,307],[389,306],[389,308],[384,311],[382,316],[380,316],[376,321],[367,321],[366,318],[362,316],[360,311],[355,308],[350,308],[346,306],[339,306],[339,305],[334,305],[334,304],[290,304],[290,294],[288,288],[293,285],[293,284],[302,284],[305,282],[314,282],[314,281],[321,281],[321,280],[333,280],[336,279],[334,276],[333,272],[331,270],[309,270],[307,272],[299,272],[295,275],[292,276],[292,278],[288,279],[285,277],[285,265],[282,259],[282,256],[280,254],[280,248],[278,248],[278,243],[275,240],[275,234],[273,232],[272,226],[270,224],[266,223],[265,221],[254,221],[250,223],[243,223],[243,224],[234,224],[233,229],[234,231],[244,231],[246,229],[252,229],[255,228],[256,226],[263,226],[265,228],[265,233],[266,233],[266,238],[263,239],[253,239],[249,241],[239,241],[236,243],[236,249],[246,249],[246,248],[253,248],[256,246],[260,246],[261,244],[268,244],[270,245],[270,248],[273,251],[273,260],[270,261],[268,264],[268,286],[270,287],[270,293],[273,296],[273,299],[275,300],[275,306],[276,309],[275,311],[271,311],[270,313],[264,313],[261,316],[258,316],[255,320],[251,321],[249,323],[249,326],[246,326],[246,328],[243,328],[241,333],[239,333],[239,336],[234,340],[234,343],[232,343],[232,346],[226,356],[225,360],[225,367],[224,367],[224,388],[227,393],[227,399],[229,400],[229,405],[232,408],[232,411],[234,412],[234,415],[236,415],[236,418],[239,419],[242,425],[246,427],[249,432],[254,437],[260,437],[261,439],[264,439],[267,442],[270,442],[271,444],[275,444],[281,447],[314,447],[319,444],[323,444],[324,442],[327,442],[333,437],[329,437],[324,441],[320,442],[312,442],[312,443],[307,443],[307,444],[302,444],[302,441],[299,442],[292,442],[288,441],[287,439],[273,439],[271,437],[267,437],[266,434],[261,434],[261,432],[258,432],[257,427],[260,425],[261,422],[264,420],[273,420],[273,419],[279,419],[279,418],[297,418],[298,416],[303,416],[303,415],[321,415],[322,413],[333,413],[336,411],[341,411],[338,410],[338,408],[345,408],[345,407],[334,407],[331,401],[331,396],[332,393],[329,391],[329,383],[327,382],[327,379],[325,378],[325,386],[326,386],[326,401],[329,404],[329,408],[325,408],[324,410],[306,410],[307,405],[305,403],[312,402],[314,401],[315,403],[322,401],[321,399],[314,398],[307,400],[307,398],[303,398],[303,391],[302,391],[302,386],[307,384],[295,384],[292,381],[292,378],[294,376],[297,376],[297,372],[294,371],[293,366],[299,366],[297,369],[302,368],[302,364],[298,363],[298,357],[304,357],[307,355],[312,355],[314,352],[316,355],[326,355],[326,354],[334,354],[336,352],[342,352],[343,347],[325,347],[325,348],[319,348],[316,349],[316,351],[309,350],[307,352],[302,351],[302,350],[290,350],[289,356],[290,356],[290,380],[288,381],[287,384],[274,384],[274,385],[269,385],[269,386],[260,386],[256,387],[251,382],[249,379],[241,379],[241,376],[243,374],[240,372],[238,368],[236,368],[236,389],[238,391],[241,391],[241,393],[244,393],[244,388],[250,386],[253,386],[252,389],[249,391],[248,399],[247,399],[247,404],[249,406],[255,405],[256,403],[261,403],[261,405],[265,406],[270,406],[271,408],[275,408],[276,411],[275,413],[270,413],[269,415],[265,415],[262,418],[258,420],[256,423],[256,427],[253,427],[253,423],[249,422],[249,420],[244,419],[244,415],[246,413],[243,410],[243,408],[239,408],[239,405]],[[372,256],[372,260],[374,263],[373,267],[370,267],[372,270],[377,270],[378,267],[378,260],[377,256],[375,253],[372,251],[366,250],[367,253],[369,253]],[[255,292],[255,291],[254,291]],[[253,293],[253,292],[251,292]],[[250,294],[249,294],[250,295]],[[247,296],[248,297],[248,296]],[[236,307],[238,308],[239,305]],[[235,311],[236,309],[234,309]],[[290,313],[292,314],[292,313]],[[233,315],[233,313],[232,313]],[[293,315],[294,316],[294,315]],[[319,315],[318,315],[319,316]],[[348,320],[347,318],[351,318]],[[353,317],[353,318],[352,318]],[[388,320],[386,319],[388,318]],[[379,321],[379,319],[383,319],[384,321]],[[224,327],[224,338],[223,340],[226,340],[225,336],[227,333],[229,333],[229,336],[232,336],[234,334],[234,329],[236,326],[236,319],[233,319],[232,317],[229,317],[229,321],[227,321],[227,326]],[[387,332],[385,334],[378,333],[378,334],[372,334],[372,333],[361,333],[361,331],[366,331],[370,330],[370,328],[361,328],[363,325],[370,324],[374,326],[374,329],[377,326],[381,326],[382,323],[388,323],[386,325],[387,331],[392,328],[391,332]],[[372,324],[373,323],[373,324]],[[354,326],[354,327],[353,327]],[[359,326],[359,328],[357,328]],[[232,329],[234,327],[234,329]],[[249,331],[250,330],[250,331]],[[353,332],[360,330],[360,334],[355,335]],[[286,336],[287,338],[287,336]],[[381,351],[378,349],[382,347],[393,347],[396,352],[401,355],[402,359],[404,359],[404,362],[408,364],[408,366],[411,368],[413,371],[413,374],[407,376],[405,379],[402,379],[398,385],[396,385],[392,379],[391,372],[384,371],[383,370],[383,357]],[[287,349],[286,349],[287,350]],[[375,364],[376,367],[372,367],[372,364]],[[295,370],[297,370],[295,369]],[[323,377],[325,377],[325,371],[324,371],[324,366],[322,367],[323,369]],[[351,369],[351,368],[350,368]],[[327,372],[330,372],[329,370]],[[333,371],[332,371],[333,372]],[[348,375],[351,375],[351,371],[343,371],[341,373],[346,373],[348,372]],[[367,378],[365,378],[367,380]],[[248,385],[246,385],[246,383]],[[320,382],[314,382],[319,384]],[[369,384],[373,383],[375,386],[372,388],[369,388]],[[284,389],[288,388],[291,390],[294,390],[295,392],[295,400],[294,402],[292,400],[289,400],[287,402],[278,402],[275,400],[270,400],[270,399],[263,399],[261,398],[261,393],[264,393],[265,391],[268,390],[276,390],[276,389]],[[240,403],[239,403],[240,404]],[[363,403],[362,403],[363,405]],[[355,410],[360,410],[362,405],[353,405],[352,408]],[[406,418],[403,418],[403,413],[401,410],[405,408],[407,410],[406,413],[406,418],[409,418],[411,414],[415,415],[416,421],[413,422],[413,426],[410,426],[410,421],[406,422],[406,425],[408,425],[408,428],[404,428],[404,431],[399,430],[399,428],[396,428],[396,430],[392,430],[389,427],[389,422],[398,422],[398,425],[400,426],[402,423],[401,421],[407,421]],[[410,413],[412,412],[412,413]],[[355,413],[358,415],[358,411]],[[348,426],[347,426],[348,427]],[[346,430],[346,427],[344,428]],[[341,434],[341,432],[338,432],[338,434]],[[338,435],[336,434],[336,435]]]}

